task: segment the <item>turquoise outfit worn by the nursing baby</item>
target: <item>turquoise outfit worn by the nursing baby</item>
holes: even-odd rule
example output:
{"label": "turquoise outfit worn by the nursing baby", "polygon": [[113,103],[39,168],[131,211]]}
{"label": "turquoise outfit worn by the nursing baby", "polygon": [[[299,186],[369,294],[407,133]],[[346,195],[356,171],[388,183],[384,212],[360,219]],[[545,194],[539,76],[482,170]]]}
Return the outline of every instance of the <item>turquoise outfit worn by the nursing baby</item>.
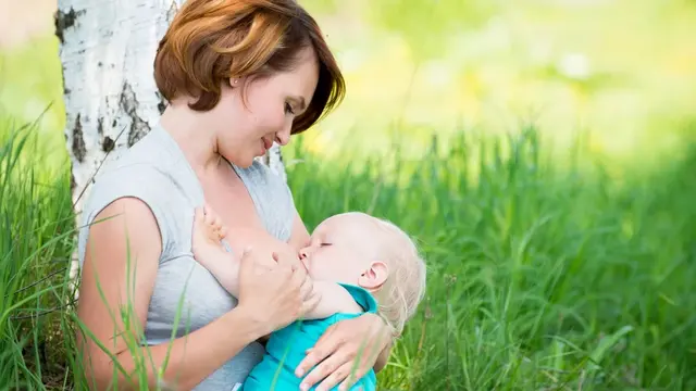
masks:
{"label": "turquoise outfit worn by the nursing baby", "polygon": [[[366,313],[377,312],[377,302],[363,288],[339,283]],[[301,378],[295,376],[295,369],[304,358],[306,351],[316,343],[326,329],[339,320],[355,318],[361,314],[338,313],[324,319],[298,320],[273,332],[266,343],[266,353],[246,379],[244,391],[297,391]],[[362,352],[360,352],[362,353]],[[360,354],[359,353],[359,354]],[[309,371],[308,371],[309,374]],[[352,390],[376,390],[377,378],[374,369],[360,378]],[[315,390],[314,384],[310,390]],[[338,384],[332,389],[338,390]]]}

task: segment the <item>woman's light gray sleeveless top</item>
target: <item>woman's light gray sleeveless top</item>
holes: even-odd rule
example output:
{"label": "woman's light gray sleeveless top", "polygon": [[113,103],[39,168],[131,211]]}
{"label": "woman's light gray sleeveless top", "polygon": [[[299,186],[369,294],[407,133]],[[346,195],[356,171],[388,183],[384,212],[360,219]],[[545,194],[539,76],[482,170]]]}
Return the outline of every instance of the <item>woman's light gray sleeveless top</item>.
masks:
{"label": "woman's light gray sleeveless top", "polygon": [[[259,162],[248,168],[233,167],[251,194],[266,230],[287,241],[295,213],[287,185]],[[192,258],[190,251],[194,209],[203,204],[202,188],[178,144],[159,124],[110,162],[96,178],[83,210],[78,241],[80,267],[88,236],[86,225],[91,224],[103,207],[123,197],[138,198],[150,207],[162,237],[162,255],[145,329],[146,342],[167,342],[174,328],[176,337],[182,337],[187,330],[203,327],[231,311],[237,300]],[[176,327],[179,306],[181,320]],[[236,383],[244,382],[263,353],[263,346],[252,342],[196,390],[233,390]]]}

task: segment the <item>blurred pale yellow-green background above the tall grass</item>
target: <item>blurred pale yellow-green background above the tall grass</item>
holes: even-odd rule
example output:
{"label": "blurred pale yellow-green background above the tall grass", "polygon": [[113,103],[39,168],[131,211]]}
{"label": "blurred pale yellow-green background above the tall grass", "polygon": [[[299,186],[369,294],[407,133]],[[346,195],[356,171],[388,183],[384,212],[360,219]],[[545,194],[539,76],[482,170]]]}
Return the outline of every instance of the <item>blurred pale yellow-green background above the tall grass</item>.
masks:
{"label": "blurred pale yellow-green background above the tall grass", "polygon": [[[323,156],[381,154],[395,140],[418,156],[433,134],[534,122],[558,153],[582,133],[597,155],[635,168],[683,147],[696,117],[693,1],[302,3],[348,81],[345,104],[303,139]],[[42,129],[53,147],[64,140],[57,45],[38,36],[0,60],[0,106],[32,121],[52,103]]]}

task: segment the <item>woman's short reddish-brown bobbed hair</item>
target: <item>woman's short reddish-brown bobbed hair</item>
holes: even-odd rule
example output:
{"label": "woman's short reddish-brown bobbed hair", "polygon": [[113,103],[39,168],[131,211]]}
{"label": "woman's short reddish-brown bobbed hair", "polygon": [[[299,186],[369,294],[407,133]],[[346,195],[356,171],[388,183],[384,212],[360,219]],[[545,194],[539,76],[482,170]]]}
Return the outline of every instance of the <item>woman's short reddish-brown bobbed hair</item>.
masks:
{"label": "woman's short reddish-brown bobbed hair", "polygon": [[295,0],[187,0],[160,41],[154,80],[166,100],[186,93],[197,98],[192,110],[208,111],[228,78],[289,71],[307,47],[319,60],[319,83],[293,123],[299,134],[340,103],[346,86],[319,25]]}

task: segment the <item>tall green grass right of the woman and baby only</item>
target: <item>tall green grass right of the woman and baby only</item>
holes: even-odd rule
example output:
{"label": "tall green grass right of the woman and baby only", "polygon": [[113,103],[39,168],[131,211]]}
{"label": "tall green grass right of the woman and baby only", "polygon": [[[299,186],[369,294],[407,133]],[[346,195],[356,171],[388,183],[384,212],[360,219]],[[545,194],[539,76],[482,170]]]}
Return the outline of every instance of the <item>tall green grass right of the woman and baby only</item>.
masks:
{"label": "tall green grass right of the woman and baby only", "polygon": [[[534,129],[525,135],[487,146],[462,139],[445,156],[399,162],[400,188],[368,173],[380,161],[352,176],[319,161],[291,171],[308,224],[372,211],[417,236],[426,254],[427,302],[382,384],[696,387],[696,151],[655,177],[618,182],[600,166],[552,168]],[[496,153],[504,149],[511,153]],[[472,150],[482,157],[467,161]],[[471,171],[477,180],[467,179]]]}

